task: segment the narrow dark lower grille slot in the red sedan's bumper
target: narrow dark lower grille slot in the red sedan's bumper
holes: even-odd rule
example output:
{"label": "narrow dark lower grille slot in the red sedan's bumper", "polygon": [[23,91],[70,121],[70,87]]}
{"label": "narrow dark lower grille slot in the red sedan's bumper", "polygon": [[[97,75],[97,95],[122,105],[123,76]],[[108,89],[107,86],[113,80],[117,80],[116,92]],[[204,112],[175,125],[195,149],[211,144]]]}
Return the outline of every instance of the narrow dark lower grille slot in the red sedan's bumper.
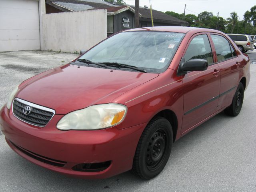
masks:
{"label": "narrow dark lower grille slot in the red sedan's bumper", "polygon": [[36,153],[33,153],[33,152],[29,151],[29,150],[26,150],[26,149],[22,148],[21,146],[18,146],[16,144],[14,144],[13,142],[11,142],[11,143],[20,152],[22,152],[22,153],[26,154],[27,156],[30,156],[30,157],[38,160],[38,161],[41,161],[43,163],[47,163],[47,164],[50,164],[50,165],[53,165],[53,166],[56,166],[56,167],[64,167],[66,165],[66,163],[67,163],[65,161],[60,161],[60,160],[44,157],[42,155],[38,155]]}

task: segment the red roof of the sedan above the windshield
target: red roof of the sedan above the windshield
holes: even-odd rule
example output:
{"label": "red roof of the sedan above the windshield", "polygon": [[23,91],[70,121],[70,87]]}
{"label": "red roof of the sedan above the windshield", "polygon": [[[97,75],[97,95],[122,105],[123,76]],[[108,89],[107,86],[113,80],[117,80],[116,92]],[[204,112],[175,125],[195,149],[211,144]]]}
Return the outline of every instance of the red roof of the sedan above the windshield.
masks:
{"label": "red roof of the sedan above the windshield", "polygon": [[179,32],[179,33],[188,33],[189,31],[193,31],[195,33],[198,32],[215,32],[224,34],[218,30],[214,29],[205,29],[205,28],[197,28],[197,27],[182,27],[182,26],[158,26],[158,27],[144,27],[144,28],[135,28],[128,29],[127,31],[164,31],[164,32]]}

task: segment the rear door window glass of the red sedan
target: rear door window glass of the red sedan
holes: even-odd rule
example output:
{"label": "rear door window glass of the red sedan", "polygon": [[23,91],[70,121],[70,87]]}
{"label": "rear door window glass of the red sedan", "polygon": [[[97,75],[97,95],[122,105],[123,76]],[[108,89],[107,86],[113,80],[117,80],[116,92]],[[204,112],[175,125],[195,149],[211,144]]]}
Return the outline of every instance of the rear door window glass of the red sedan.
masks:
{"label": "rear door window glass of the red sedan", "polygon": [[226,40],[226,38],[220,35],[212,35],[212,34],[211,34],[211,37],[215,47],[218,62],[233,57],[233,54],[230,48],[230,43],[228,40]]}

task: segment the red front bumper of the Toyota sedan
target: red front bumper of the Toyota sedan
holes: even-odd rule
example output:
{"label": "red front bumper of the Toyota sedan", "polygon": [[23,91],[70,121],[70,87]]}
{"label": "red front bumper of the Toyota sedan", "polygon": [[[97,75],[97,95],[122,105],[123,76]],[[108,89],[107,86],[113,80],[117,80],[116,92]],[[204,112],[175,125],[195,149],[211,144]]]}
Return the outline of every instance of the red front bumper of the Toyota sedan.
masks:
{"label": "red front bumper of the Toyota sedan", "polygon": [[[122,130],[112,127],[103,130],[61,131],[56,128],[56,124],[62,116],[55,115],[45,127],[39,128],[18,120],[4,106],[0,110],[0,127],[7,143],[16,153],[30,162],[62,174],[99,179],[132,168],[136,146],[146,124]],[[110,166],[99,172],[72,170],[77,164],[107,161],[111,162]],[[63,166],[54,166],[51,162],[60,162]]]}

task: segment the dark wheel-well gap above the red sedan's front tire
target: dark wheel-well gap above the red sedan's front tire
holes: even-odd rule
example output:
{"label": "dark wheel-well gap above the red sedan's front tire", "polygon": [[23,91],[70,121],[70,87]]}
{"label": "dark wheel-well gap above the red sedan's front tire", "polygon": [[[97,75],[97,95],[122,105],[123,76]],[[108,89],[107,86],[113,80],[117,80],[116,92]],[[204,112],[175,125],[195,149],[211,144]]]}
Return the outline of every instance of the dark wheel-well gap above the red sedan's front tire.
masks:
{"label": "dark wheel-well gap above the red sedan's front tire", "polygon": [[158,112],[156,115],[154,115],[153,118],[151,118],[151,120],[156,117],[164,117],[170,122],[170,124],[172,125],[173,142],[174,142],[176,140],[177,130],[178,130],[178,118],[176,114],[170,109],[165,109]]}

